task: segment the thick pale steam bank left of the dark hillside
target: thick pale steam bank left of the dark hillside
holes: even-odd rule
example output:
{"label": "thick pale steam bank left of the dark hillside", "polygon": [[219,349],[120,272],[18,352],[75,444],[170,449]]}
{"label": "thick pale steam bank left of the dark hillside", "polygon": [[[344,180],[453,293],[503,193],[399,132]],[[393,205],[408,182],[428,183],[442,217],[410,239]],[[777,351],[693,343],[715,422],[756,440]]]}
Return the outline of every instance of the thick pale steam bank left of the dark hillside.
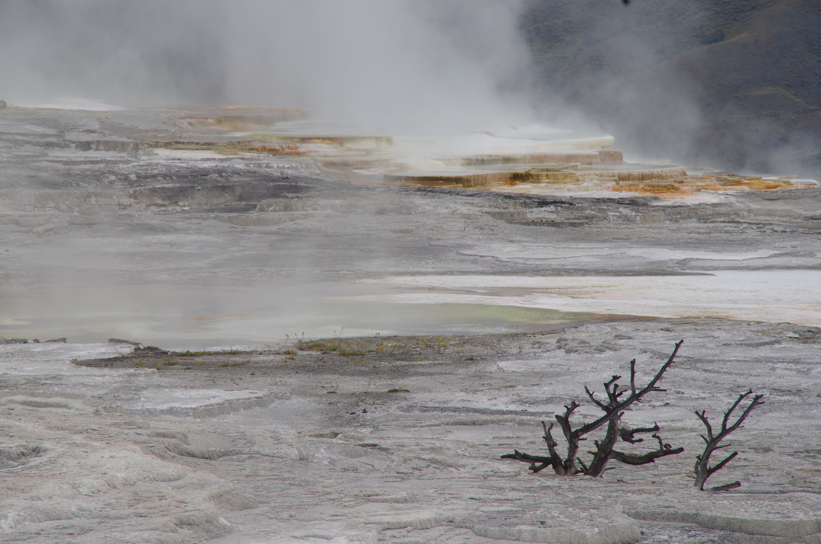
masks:
{"label": "thick pale steam bank left of the dark hillside", "polygon": [[309,108],[369,127],[528,120],[523,0],[5,2],[0,95]]}

